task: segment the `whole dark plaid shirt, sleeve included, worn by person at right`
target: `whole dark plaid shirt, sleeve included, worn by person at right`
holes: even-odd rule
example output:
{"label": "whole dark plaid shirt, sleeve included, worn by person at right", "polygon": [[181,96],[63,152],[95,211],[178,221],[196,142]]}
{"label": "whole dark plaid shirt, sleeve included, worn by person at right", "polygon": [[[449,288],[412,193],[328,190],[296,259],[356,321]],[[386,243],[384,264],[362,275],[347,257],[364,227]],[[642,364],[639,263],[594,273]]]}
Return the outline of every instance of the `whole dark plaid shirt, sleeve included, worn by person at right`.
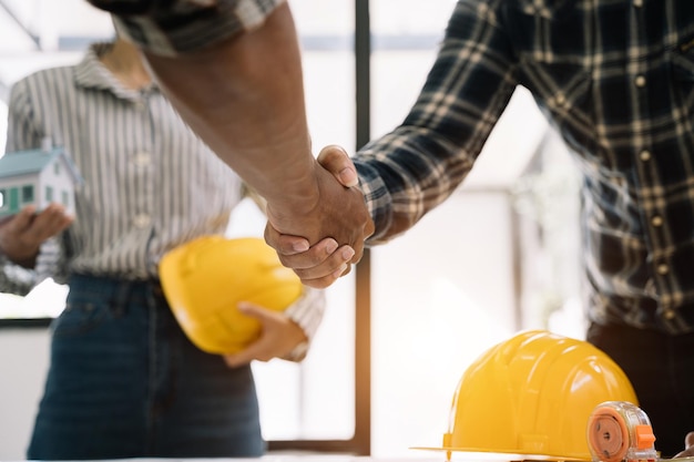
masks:
{"label": "whole dark plaid shirt, sleeve included, worn by person at right", "polygon": [[693,0],[460,0],[405,122],[355,157],[370,243],[455,191],[518,85],[581,166],[591,319],[693,331]]}

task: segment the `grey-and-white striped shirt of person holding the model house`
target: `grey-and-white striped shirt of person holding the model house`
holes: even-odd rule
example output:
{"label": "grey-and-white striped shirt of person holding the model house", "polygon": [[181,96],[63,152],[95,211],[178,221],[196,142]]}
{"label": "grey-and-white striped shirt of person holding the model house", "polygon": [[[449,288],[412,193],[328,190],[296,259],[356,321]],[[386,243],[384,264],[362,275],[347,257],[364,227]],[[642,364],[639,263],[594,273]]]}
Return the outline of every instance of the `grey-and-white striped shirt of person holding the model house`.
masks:
{"label": "grey-and-white striped shirt of person holding the model house", "polygon": [[[164,253],[225,234],[245,197],[241,178],[155,85],[129,90],[99,61],[108,47],[94,44],[78,65],[39,71],[12,86],[6,152],[50,137],[65,147],[84,184],[75,220],[42,247],[33,277],[9,266],[0,271],[0,291],[23,294],[45,277],[65,283],[71,273],[157,278]],[[312,338],[324,302],[322,290],[307,287],[286,312]]]}

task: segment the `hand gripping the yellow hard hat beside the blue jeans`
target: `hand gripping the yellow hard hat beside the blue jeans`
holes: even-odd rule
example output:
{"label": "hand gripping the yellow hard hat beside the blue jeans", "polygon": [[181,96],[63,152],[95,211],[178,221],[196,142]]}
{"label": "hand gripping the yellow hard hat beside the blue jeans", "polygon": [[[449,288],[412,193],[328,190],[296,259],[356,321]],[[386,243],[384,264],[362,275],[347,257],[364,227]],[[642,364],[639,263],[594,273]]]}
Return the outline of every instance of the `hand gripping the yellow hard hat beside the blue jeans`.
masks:
{"label": "hand gripping the yellow hard hat beside the blue jeans", "polygon": [[263,308],[253,304],[239,304],[238,309],[247,316],[261,321],[261,337],[248,348],[224,356],[227,366],[234,368],[253,360],[269,361],[284,358],[298,345],[307,341],[304,330],[282,312]]}

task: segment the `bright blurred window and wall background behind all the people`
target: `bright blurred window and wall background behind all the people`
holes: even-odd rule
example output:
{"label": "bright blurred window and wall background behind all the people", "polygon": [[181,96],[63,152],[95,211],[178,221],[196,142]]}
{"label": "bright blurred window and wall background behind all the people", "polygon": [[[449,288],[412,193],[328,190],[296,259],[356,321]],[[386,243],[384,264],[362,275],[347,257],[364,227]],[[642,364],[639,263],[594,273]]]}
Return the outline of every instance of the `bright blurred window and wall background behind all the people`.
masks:
{"label": "bright blurred window and wall background behind all the people", "polygon": [[[314,146],[354,152],[407,114],[455,1],[289,4]],[[113,30],[83,0],[0,0],[0,30],[4,146],[12,83],[78,62]],[[519,89],[465,185],[327,289],[308,358],[254,365],[271,448],[430,456],[410,446],[441,444],[458,379],[484,349],[528,328],[582,338],[576,187],[564,147]],[[229,235],[265,224],[252,204],[233,222]],[[23,298],[0,294],[0,460],[24,456],[65,294],[50,280]]]}

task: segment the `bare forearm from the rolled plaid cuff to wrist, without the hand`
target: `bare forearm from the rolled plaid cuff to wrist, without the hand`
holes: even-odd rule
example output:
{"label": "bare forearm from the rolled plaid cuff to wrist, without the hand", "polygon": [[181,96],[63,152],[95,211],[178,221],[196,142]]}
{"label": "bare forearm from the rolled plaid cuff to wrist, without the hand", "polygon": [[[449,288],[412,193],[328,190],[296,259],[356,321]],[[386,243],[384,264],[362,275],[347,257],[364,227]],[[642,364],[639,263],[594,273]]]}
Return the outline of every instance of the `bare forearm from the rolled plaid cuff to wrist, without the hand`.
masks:
{"label": "bare forearm from the rolled plaid cuff to wrist, without the hand", "polygon": [[275,208],[317,201],[299,49],[289,9],[212,48],[146,53],[186,123]]}

